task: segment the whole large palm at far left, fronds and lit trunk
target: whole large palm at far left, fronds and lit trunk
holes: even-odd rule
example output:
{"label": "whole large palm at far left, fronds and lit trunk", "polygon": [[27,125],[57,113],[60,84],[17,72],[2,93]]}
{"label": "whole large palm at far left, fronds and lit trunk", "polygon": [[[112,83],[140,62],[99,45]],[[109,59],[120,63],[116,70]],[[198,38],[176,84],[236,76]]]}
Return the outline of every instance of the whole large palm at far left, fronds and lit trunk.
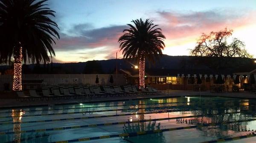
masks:
{"label": "whole large palm at far left, fronds and lit trunk", "polygon": [[48,0],[0,0],[0,62],[14,58],[13,90],[22,90],[21,65],[48,62],[55,56],[52,44],[59,39],[58,25],[49,16]]}

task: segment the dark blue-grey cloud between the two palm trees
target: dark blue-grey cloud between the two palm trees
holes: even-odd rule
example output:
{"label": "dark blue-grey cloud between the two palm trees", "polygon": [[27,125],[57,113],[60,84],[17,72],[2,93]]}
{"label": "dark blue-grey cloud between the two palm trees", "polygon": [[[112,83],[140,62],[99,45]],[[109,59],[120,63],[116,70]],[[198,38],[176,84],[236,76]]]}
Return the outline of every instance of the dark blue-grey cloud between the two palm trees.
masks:
{"label": "dark blue-grey cloud between the two palm trees", "polygon": [[56,50],[92,49],[102,46],[118,48],[117,40],[127,28],[125,25],[113,25],[87,30],[90,27],[90,24],[74,25],[73,33],[79,34],[78,36],[61,33],[61,39],[55,45]]}

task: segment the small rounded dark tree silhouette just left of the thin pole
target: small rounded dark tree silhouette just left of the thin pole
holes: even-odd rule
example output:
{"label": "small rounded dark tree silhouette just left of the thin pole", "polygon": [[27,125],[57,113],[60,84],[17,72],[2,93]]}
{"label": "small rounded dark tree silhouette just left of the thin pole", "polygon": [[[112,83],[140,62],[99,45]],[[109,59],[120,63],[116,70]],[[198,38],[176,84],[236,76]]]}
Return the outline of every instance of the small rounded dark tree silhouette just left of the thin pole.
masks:
{"label": "small rounded dark tree silhouette just left of the thin pole", "polygon": [[88,61],[87,64],[84,67],[84,74],[102,74],[102,65],[93,60],[93,61]]}

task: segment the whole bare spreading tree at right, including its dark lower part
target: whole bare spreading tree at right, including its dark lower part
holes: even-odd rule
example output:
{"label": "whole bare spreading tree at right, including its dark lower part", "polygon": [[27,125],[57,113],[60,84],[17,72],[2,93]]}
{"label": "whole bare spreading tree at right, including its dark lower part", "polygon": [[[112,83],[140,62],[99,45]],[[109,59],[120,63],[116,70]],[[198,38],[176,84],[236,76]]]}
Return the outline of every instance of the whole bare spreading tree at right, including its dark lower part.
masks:
{"label": "whole bare spreading tree at right, including its dark lower part", "polygon": [[232,36],[232,33],[233,30],[227,30],[227,28],[221,31],[212,31],[209,34],[203,33],[195,48],[190,49],[190,54],[197,56],[193,61],[197,60],[204,64],[210,63],[210,68],[220,70],[228,68],[227,65],[242,65],[241,62],[244,59],[236,60],[237,63],[234,63],[232,57],[252,58],[253,56],[245,50],[244,42],[239,39],[233,38],[232,42],[228,44],[227,38]]}

